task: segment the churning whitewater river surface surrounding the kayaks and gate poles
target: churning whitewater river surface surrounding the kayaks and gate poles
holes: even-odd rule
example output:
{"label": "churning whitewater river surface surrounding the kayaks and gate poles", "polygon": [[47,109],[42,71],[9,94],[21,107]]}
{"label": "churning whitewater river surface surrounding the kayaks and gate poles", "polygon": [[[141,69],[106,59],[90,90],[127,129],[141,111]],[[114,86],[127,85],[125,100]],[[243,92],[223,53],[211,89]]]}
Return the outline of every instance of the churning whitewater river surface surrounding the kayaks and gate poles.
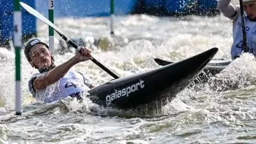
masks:
{"label": "churning whitewater river surface surrounding the kayaks and gate poles", "polygon": [[[56,19],[70,38],[101,39],[90,46],[93,57],[123,77],[158,68],[154,58],[184,59],[219,48],[215,58],[230,59],[232,22],[186,16],[158,18],[146,15],[115,18],[110,36],[109,18]],[[38,23],[38,36],[48,41],[48,26]],[[55,33],[56,48],[60,37]],[[105,43],[105,40],[109,43]],[[56,64],[73,53],[55,54]],[[256,62],[243,54],[208,83],[193,84],[161,110],[102,108],[85,98],[43,105],[31,98],[27,83],[36,69],[22,56],[23,115],[14,115],[14,53],[0,51],[1,143],[255,143]],[[112,79],[91,61],[73,67],[100,85]],[[86,97],[86,95],[84,96]]]}

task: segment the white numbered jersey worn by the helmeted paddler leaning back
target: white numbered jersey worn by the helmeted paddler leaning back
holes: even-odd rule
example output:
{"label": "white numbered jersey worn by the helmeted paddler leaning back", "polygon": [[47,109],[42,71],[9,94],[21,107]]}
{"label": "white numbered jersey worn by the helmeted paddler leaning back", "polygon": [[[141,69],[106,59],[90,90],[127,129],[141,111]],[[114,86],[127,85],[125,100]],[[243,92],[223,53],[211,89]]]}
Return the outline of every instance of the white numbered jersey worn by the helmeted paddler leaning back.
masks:
{"label": "white numbered jersey worn by the helmeted paddler leaning back", "polygon": [[61,98],[67,98],[67,96],[77,97],[80,96],[83,91],[90,90],[92,81],[82,73],[77,71],[68,71],[59,81],[52,85],[46,86],[42,90],[33,90],[33,83],[36,78],[46,75],[45,73],[36,73],[29,80],[29,91],[38,101],[45,103],[51,103],[53,101],[60,100]]}

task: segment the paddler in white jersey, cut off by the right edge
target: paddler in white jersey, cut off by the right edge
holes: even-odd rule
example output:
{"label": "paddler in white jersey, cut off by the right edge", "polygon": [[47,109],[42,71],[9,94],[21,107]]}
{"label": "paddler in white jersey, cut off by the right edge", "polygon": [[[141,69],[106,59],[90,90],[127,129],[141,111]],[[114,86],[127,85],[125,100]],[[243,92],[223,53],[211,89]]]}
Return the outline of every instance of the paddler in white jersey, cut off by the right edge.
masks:
{"label": "paddler in white jersey, cut off by the right edge", "polygon": [[[231,0],[218,0],[217,8],[224,16],[233,21],[232,59],[238,58],[243,52],[243,33],[240,6],[233,6]],[[247,32],[248,52],[256,55],[256,0],[243,0],[245,11],[244,21]]]}

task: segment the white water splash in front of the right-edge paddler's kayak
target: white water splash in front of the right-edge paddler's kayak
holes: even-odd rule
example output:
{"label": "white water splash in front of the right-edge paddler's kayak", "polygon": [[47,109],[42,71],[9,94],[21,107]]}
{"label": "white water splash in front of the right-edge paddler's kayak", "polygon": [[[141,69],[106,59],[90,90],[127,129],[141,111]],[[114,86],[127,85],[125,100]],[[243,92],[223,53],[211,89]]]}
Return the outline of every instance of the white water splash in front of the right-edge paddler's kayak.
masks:
{"label": "white water splash in front of the right-edge paddler's kayak", "polygon": [[221,73],[209,80],[208,87],[213,90],[235,90],[255,84],[256,61],[252,54],[245,53],[235,59]]}

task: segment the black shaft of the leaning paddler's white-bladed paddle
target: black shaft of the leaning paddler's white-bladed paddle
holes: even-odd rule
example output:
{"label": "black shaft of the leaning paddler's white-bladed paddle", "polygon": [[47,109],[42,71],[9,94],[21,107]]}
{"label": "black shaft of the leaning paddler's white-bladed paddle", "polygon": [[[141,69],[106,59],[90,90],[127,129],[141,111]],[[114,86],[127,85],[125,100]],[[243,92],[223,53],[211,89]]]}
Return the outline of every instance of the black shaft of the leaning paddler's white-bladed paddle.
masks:
{"label": "black shaft of the leaning paddler's white-bladed paddle", "polygon": [[[57,31],[58,32],[58,31]],[[75,44],[72,40],[68,39],[67,36],[60,34],[61,38],[63,38],[65,41],[67,41],[67,43],[69,43],[71,46],[73,46],[73,48],[77,49],[77,51],[80,51],[81,48],[80,46],[78,46],[77,44]],[[113,78],[117,79],[119,78],[119,76],[115,75],[112,71],[110,71],[108,68],[106,68],[103,64],[101,64],[99,61],[97,61],[97,59],[91,57],[90,60],[97,64],[97,66],[99,66],[100,68],[104,69],[104,71],[106,71],[107,73],[109,73],[109,75],[113,76]]]}

